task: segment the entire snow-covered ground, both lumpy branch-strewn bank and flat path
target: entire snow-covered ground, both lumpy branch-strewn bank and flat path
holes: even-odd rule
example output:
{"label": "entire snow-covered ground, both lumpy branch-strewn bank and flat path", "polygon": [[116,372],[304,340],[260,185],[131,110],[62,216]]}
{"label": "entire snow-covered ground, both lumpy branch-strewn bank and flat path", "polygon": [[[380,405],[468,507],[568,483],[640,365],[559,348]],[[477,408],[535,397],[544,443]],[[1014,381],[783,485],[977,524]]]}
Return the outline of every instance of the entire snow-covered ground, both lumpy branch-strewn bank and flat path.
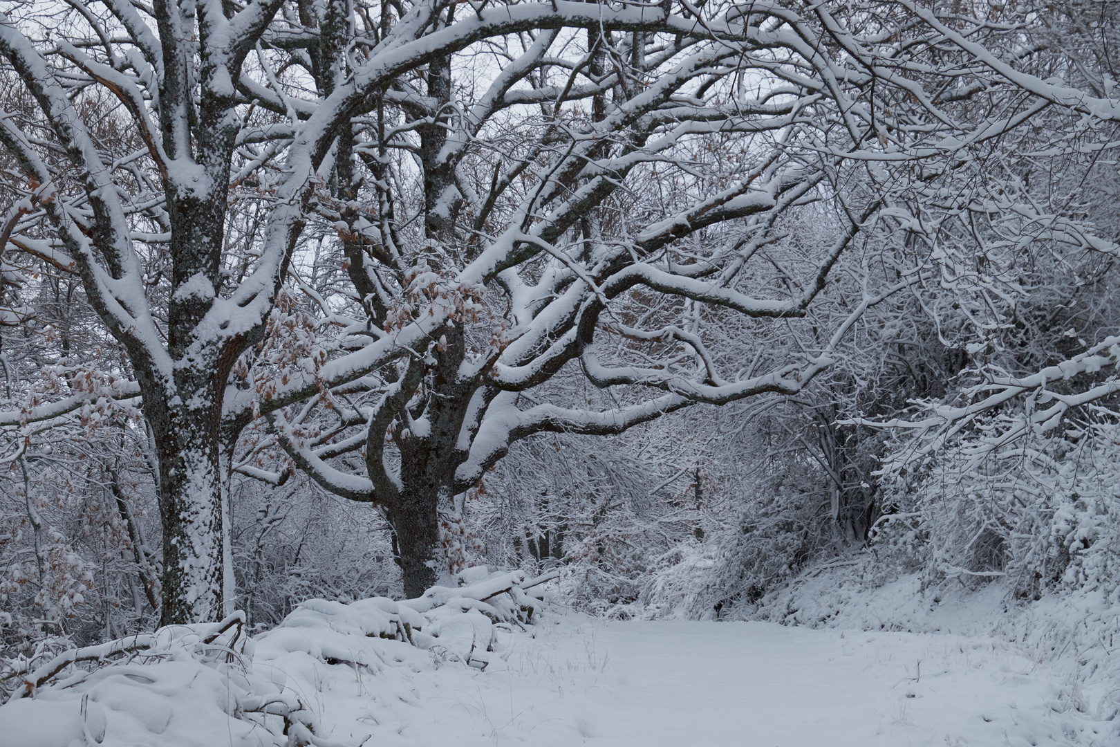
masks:
{"label": "entire snow-covered ground, both lumpy branch-strewn bank and flat path", "polygon": [[999,636],[554,606],[541,619],[510,578],[408,603],[310,600],[244,647],[234,628],[165,628],[139,659],[64,671],[0,707],[0,747],[1120,744],[1089,716],[1108,681],[1082,690],[1076,670]]}

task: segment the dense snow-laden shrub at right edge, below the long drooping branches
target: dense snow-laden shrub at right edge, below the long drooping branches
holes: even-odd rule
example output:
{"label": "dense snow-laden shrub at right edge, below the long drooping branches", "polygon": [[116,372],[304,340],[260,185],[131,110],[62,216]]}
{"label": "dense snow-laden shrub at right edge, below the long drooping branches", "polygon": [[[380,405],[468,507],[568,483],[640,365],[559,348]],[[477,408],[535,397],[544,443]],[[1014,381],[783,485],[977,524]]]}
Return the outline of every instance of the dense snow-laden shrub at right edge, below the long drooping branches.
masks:
{"label": "dense snow-laden shrub at right edge, below the long drooping branches", "polygon": [[[996,418],[981,421],[981,433]],[[886,566],[928,582],[1007,578],[1018,597],[1120,588],[1120,423],[1108,411],[1060,435],[986,449],[963,440],[888,486],[871,535]],[[896,460],[894,464],[898,464]]]}

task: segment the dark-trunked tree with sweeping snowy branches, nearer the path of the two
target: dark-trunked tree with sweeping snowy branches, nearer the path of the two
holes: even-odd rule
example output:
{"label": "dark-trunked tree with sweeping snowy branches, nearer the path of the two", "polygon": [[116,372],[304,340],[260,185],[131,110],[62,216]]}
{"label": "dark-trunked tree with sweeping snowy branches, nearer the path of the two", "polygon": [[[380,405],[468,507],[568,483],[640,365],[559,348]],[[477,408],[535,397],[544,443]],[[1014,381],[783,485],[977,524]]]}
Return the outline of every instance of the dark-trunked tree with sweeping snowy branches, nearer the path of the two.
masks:
{"label": "dark-trunked tree with sweeping snowy branches, nearer the path of the two", "polygon": [[[530,12],[516,8],[506,12]],[[579,7],[557,8],[540,12]],[[486,18],[460,12],[440,17],[440,34]],[[407,594],[457,552],[457,496],[511,443],[802,391],[911,268],[856,282],[846,311],[808,323],[823,327],[803,348],[780,330],[810,314],[900,175],[942,158],[931,140],[964,134],[933,115],[922,83],[841,52],[889,46],[881,19],[856,31],[858,13],[824,9],[595,12],[609,20],[535,19],[531,34],[429,62],[339,140],[335,202],[320,200],[320,215],[336,222],[364,333],[377,338],[366,349],[385,357],[367,391],[268,418],[320,485],[384,508]],[[629,26],[632,12],[653,20]],[[862,101],[876,86],[876,105],[932,124],[913,137],[877,120]],[[884,152],[897,168],[867,168]],[[823,230],[782,244],[795,208]],[[772,328],[755,340],[778,345],[745,348],[732,326]]]}

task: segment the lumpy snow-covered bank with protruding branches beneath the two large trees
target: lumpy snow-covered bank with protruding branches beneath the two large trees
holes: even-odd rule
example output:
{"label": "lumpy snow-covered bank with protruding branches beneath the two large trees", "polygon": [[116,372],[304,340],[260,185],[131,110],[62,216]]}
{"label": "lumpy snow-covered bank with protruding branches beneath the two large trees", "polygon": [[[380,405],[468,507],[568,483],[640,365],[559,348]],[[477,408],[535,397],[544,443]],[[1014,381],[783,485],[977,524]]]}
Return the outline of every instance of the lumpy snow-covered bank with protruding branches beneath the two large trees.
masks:
{"label": "lumpy snow-covered bank with protruding branches beneath the two large trees", "polygon": [[539,617],[551,578],[476,568],[456,577],[460,586],[433,587],[417,599],[310,599],[254,637],[239,611],[216,624],[168,626],[26,661],[7,678],[16,687],[0,707],[0,741],[356,747],[364,740],[320,736],[325,691],[333,699],[362,697],[375,710],[377,693],[408,697],[407,678],[394,674],[445,663],[485,669],[511,634]]}

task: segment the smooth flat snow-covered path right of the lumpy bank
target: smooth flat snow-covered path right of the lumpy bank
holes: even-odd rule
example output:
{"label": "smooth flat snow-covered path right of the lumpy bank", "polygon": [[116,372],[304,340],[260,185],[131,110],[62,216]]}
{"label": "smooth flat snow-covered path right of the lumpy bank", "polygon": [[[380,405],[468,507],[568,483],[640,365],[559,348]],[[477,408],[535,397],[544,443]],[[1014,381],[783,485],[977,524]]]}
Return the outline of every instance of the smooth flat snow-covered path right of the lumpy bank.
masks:
{"label": "smooth flat snow-covered path right of the lumpy bank", "polygon": [[[1080,695],[1064,678],[990,638],[668,620],[538,629],[486,672],[416,673],[407,706],[366,734],[432,746],[1109,744],[1105,725],[1070,708]],[[363,736],[340,706],[326,720]]]}

